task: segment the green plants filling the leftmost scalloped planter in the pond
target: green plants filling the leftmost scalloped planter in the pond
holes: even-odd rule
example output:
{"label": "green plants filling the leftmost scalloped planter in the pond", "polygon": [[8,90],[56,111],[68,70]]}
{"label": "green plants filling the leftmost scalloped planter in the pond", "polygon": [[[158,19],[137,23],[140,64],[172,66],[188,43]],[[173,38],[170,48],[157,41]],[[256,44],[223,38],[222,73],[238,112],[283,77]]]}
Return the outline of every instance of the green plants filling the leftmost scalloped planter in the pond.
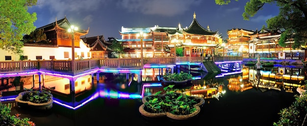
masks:
{"label": "green plants filling the leftmost scalloped planter in the pond", "polygon": [[25,89],[27,92],[23,95],[22,101],[30,101],[33,103],[46,103],[51,100],[51,92],[45,88],[43,90]]}

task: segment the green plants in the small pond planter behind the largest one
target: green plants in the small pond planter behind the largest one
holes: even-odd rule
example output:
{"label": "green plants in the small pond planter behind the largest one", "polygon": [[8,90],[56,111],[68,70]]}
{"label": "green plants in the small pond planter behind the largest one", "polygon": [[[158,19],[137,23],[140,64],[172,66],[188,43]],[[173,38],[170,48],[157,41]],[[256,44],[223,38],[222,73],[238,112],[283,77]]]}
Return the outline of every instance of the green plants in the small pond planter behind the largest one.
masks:
{"label": "green plants in the small pond planter behind the largest one", "polygon": [[168,81],[183,81],[186,79],[191,79],[192,75],[188,73],[184,73],[183,71],[180,71],[180,73],[173,73],[173,74],[165,73],[163,77],[164,79]]}

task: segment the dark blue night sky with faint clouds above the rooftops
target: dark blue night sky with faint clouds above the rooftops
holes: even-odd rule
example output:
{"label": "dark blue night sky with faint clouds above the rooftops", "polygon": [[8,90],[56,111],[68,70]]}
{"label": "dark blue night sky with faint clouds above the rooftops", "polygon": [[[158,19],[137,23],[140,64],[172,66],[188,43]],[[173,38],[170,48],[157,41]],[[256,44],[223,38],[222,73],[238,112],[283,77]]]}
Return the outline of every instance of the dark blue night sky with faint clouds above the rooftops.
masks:
{"label": "dark blue night sky with faint clouds above the rooftops", "polygon": [[188,27],[196,19],[204,28],[222,33],[243,28],[261,29],[265,21],[277,16],[276,5],[265,4],[249,21],[243,20],[244,5],[248,0],[232,0],[228,5],[217,5],[214,0],[38,0],[39,5],[29,7],[37,13],[36,27],[48,25],[65,16],[72,25],[89,29],[86,37],[103,35],[121,39],[121,27],[152,27],[154,25]]}

